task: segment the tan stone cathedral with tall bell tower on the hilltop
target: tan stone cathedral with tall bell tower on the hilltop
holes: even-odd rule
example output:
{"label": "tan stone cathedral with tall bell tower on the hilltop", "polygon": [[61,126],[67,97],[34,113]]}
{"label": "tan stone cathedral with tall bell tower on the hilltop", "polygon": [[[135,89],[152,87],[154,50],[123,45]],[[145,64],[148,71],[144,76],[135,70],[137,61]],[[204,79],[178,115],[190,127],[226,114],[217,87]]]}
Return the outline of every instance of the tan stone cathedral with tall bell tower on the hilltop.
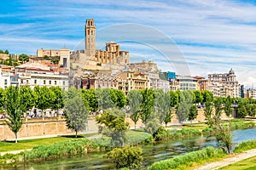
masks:
{"label": "tan stone cathedral with tall bell tower on the hilltop", "polygon": [[130,63],[129,52],[121,51],[116,42],[106,42],[105,50],[96,49],[96,25],[93,19],[85,23],[85,48],[71,52],[71,65],[89,71],[122,70]]}

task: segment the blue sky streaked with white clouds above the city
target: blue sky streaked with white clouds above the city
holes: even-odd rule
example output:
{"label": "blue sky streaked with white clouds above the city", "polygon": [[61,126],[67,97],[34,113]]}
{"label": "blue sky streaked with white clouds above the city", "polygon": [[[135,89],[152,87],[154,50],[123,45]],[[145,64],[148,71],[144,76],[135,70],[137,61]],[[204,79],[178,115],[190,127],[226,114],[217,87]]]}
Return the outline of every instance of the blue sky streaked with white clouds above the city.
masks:
{"label": "blue sky streaked with white clouds above the city", "polygon": [[232,68],[256,87],[256,1],[3,0],[0,49],[84,47],[84,22],[96,23],[96,47],[119,42],[131,62],[153,59],[162,71],[207,77]]}

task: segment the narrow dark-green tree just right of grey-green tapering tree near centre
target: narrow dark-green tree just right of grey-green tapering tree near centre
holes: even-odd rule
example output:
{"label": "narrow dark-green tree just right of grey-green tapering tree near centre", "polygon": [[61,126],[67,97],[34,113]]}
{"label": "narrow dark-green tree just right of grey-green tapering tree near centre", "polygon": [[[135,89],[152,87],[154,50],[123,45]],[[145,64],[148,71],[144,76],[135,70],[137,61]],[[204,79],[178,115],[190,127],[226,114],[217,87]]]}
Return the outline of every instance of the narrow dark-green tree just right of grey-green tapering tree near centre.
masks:
{"label": "narrow dark-green tree just right of grey-green tapering tree near centre", "polygon": [[141,119],[145,124],[153,111],[154,91],[152,89],[145,88],[141,91],[141,93],[143,95],[143,101],[141,105]]}

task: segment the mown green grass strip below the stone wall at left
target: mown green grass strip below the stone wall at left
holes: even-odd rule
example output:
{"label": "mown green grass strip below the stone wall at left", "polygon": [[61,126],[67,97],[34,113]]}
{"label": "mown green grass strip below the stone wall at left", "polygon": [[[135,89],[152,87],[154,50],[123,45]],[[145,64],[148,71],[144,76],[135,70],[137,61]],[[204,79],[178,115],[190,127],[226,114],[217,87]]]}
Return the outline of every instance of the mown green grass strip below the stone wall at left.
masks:
{"label": "mown green grass strip below the stone wall at left", "polygon": [[[93,135],[96,135],[96,133],[79,135],[79,138],[90,137]],[[12,150],[27,150],[27,149],[32,149],[34,146],[38,146],[41,144],[54,144],[54,143],[64,142],[72,139],[75,139],[73,135],[67,135],[67,136],[45,138],[45,139],[18,140],[17,144],[15,144],[14,141],[2,141],[0,142],[0,152],[12,151]]]}

